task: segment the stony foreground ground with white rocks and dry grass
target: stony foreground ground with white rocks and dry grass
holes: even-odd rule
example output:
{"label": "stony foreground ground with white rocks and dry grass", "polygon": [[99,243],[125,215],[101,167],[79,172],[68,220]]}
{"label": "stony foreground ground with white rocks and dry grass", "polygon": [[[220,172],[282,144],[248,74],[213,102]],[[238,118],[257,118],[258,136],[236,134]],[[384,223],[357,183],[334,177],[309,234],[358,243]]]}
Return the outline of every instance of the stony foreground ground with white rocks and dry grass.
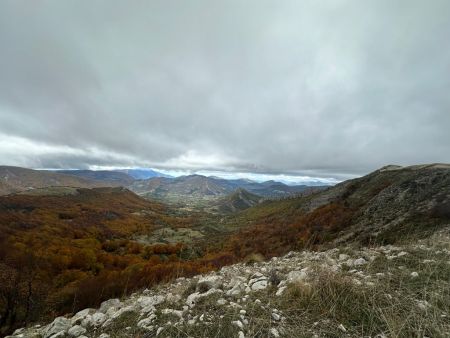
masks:
{"label": "stony foreground ground with white rocks and dry grass", "polygon": [[449,311],[447,230],[227,266],[10,337],[450,337]]}

